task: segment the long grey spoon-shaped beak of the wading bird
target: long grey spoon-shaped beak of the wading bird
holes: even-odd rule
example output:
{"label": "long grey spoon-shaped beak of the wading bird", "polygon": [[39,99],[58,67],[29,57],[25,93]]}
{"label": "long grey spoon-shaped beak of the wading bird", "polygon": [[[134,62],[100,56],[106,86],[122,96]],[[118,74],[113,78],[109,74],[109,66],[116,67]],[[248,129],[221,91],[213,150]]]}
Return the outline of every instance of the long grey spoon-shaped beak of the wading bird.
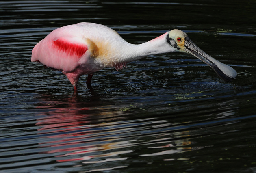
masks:
{"label": "long grey spoon-shaped beak of the wading bird", "polygon": [[212,69],[223,80],[230,82],[232,79],[236,78],[237,73],[232,67],[223,64],[214,59],[213,57],[209,56],[208,54],[206,54],[204,51],[198,48],[197,45],[195,45],[195,43],[193,43],[193,41],[191,41],[191,39],[189,39],[188,36],[185,37],[184,46],[182,47],[184,52],[187,52],[197,57],[198,59],[212,67]]}

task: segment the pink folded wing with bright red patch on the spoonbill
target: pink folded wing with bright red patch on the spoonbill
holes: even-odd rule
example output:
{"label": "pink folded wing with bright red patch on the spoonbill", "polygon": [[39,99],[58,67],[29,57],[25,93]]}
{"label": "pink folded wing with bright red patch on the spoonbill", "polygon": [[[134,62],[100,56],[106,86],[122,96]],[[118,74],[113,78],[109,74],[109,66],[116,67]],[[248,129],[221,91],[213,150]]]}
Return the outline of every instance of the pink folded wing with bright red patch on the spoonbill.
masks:
{"label": "pink folded wing with bright red patch on the spoonbill", "polygon": [[69,73],[79,67],[79,60],[87,50],[86,39],[79,32],[58,28],[37,43],[31,61]]}

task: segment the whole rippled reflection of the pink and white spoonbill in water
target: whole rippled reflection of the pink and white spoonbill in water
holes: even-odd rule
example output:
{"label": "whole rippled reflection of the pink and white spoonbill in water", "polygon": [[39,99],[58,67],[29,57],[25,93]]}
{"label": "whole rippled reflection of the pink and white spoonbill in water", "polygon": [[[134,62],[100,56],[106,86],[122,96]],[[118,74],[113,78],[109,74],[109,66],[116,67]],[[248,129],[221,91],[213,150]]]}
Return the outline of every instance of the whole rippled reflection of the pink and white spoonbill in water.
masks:
{"label": "whole rippled reflection of the pink and white spoonbill in water", "polygon": [[141,147],[147,149],[145,154],[140,154],[142,157],[191,150],[189,131],[168,132],[174,124],[167,120],[130,119],[129,112],[107,106],[85,108],[77,97],[42,98],[47,99],[37,106],[44,111],[39,114],[43,117],[37,119],[36,125],[40,127],[38,134],[45,139],[39,147],[45,147],[45,153],[54,154],[57,162],[83,160],[82,163],[87,164],[126,160]]}

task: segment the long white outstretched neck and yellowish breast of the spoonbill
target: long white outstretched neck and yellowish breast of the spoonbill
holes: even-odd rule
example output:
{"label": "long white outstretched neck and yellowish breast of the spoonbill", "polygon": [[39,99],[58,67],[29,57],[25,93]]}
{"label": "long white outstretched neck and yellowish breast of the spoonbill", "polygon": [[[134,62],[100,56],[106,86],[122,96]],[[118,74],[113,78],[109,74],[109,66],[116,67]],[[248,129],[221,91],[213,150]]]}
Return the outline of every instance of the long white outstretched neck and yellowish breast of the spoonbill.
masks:
{"label": "long white outstretched neck and yellowish breast of the spoonbill", "polygon": [[102,69],[102,67],[122,69],[126,63],[139,60],[145,56],[176,52],[176,49],[167,43],[167,34],[169,32],[142,44],[130,44],[124,39],[113,40],[112,47],[105,49],[111,51],[105,52],[104,56],[98,56],[95,63],[100,65],[99,69]]}

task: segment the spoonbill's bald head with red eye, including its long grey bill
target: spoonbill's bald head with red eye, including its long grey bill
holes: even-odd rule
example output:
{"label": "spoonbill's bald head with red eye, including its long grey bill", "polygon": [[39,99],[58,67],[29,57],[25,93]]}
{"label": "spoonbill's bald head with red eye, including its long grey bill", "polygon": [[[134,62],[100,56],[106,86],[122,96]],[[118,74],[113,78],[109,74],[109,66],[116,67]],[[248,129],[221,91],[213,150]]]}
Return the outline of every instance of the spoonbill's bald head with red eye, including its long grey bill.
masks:
{"label": "spoonbill's bald head with red eye, including its long grey bill", "polygon": [[223,80],[230,82],[232,79],[236,78],[237,73],[232,67],[206,54],[189,39],[185,32],[177,29],[171,30],[167,35],[167,42],[176,50],[191,54],[209,65]]}

